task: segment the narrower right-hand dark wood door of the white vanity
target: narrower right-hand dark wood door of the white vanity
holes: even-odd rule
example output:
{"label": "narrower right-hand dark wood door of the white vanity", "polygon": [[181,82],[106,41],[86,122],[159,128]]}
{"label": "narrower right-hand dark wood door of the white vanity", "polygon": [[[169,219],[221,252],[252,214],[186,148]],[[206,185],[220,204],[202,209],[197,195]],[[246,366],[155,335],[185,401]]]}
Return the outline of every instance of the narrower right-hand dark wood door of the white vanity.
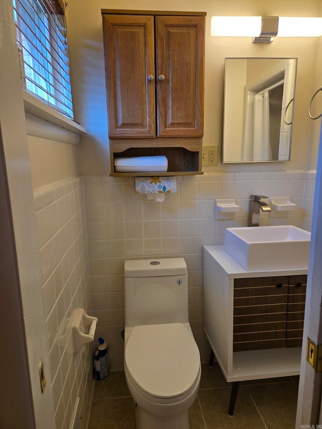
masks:
{"label": "narrower right-hand dark wood door of the white vanity", "polygon": [[289,277],[286,347],[302,347],[306,280],[306,275]]}

